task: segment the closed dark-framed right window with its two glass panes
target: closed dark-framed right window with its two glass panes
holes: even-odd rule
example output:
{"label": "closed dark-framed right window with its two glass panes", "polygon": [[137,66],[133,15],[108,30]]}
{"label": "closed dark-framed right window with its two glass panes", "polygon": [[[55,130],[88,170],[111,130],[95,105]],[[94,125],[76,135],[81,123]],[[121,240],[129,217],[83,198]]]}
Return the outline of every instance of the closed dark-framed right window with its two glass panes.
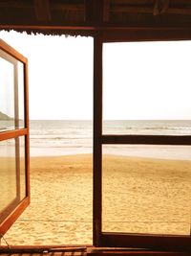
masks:
{"label": "closed dark-framed right window with its two glass panes", "polygon": [[98,246],[190,246],[189,43],[95,39]]}

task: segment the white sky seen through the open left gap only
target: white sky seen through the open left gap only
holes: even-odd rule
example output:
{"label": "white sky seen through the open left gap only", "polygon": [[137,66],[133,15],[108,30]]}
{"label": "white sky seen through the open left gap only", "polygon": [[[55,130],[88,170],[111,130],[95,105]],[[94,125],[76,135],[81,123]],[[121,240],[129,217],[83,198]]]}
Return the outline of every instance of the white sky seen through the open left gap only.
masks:
{"label": "white sky seen through the open left gap only", "polygon": [[28,58],[30,119],[93,118],[93,38],[0,32]]}

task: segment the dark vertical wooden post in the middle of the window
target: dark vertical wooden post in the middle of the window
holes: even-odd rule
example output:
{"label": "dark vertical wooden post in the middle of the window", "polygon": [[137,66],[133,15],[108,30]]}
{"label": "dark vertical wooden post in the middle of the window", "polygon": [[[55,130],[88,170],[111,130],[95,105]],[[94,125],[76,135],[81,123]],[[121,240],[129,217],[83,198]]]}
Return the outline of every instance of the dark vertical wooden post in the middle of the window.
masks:
{"label": "dark vertical wooden post in the middle of the window", "polygon": [[94,38],[94,210],[93,210],[93,243],[98,246],[101,243],[101,208],[102,208],[102,40],[99,35]]}

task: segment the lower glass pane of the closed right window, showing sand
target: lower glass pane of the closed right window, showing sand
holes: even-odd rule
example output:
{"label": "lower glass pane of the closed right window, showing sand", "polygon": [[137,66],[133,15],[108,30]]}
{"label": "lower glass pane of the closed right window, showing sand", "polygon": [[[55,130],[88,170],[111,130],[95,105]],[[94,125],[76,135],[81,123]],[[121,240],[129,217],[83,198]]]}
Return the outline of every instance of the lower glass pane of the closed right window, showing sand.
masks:
{"label": "lower glass pane of the closed right window, showing sand", "polygon": [[104,145],[102,164],[103,232],[190,235],[191,146]]}

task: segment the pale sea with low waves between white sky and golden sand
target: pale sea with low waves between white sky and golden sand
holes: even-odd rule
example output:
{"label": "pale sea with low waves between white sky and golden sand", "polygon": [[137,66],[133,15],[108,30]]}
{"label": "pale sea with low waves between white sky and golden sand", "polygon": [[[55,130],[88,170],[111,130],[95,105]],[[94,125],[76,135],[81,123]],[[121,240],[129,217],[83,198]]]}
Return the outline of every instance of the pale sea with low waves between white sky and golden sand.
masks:
{"label": "pale sea with low waves between white sky and golden sand", "polygon": [[[103,134],[191,135],[191,120],[116,120],[103,122]],[[93,153],[93,122],[31,120],[31,156]],[[103,145],[103,153],[191,160],[191,146]]]}

